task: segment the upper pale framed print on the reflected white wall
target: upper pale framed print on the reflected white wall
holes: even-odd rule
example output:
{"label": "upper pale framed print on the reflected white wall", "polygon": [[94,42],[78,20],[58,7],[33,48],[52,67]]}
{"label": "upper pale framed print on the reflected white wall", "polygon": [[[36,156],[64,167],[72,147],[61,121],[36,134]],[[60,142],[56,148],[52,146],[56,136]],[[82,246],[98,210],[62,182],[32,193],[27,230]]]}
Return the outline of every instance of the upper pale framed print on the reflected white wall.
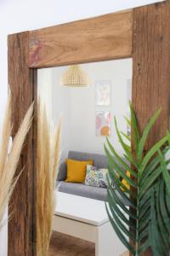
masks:
{"label": "upper pale framed print on the reflected white wall", "polygon": [[111,80],[95,82],[96,106],[111,105]]}

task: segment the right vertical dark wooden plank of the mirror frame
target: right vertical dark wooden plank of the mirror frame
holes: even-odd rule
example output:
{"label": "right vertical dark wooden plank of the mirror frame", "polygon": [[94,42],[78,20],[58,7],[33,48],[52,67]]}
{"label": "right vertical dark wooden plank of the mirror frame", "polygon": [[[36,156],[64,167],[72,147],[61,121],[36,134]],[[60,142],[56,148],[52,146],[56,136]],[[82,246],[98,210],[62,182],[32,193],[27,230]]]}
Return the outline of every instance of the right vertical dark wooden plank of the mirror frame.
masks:
{"label": "right vertical dark wooden plank of the mirror frame", "polygon": [[139,130],[158,108],[161,115],[145,145],[166,135],[170,114],[170,2],[133,9],[133,108]]}

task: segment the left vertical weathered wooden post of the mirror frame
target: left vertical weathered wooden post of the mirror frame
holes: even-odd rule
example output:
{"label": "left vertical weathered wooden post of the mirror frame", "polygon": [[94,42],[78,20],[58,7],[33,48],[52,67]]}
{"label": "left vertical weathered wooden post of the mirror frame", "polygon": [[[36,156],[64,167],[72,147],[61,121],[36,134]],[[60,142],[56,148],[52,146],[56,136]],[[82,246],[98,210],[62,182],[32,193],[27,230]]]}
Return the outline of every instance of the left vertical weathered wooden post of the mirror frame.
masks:
{"label": "left vertical weathered wooden post of the mirror frame", "polygon": [[[36,70],[28,67],[29,33],[23,32],[8,36],[8,84],[12,95],[12,136],[18,131],[26,110],[37,97]],[[34,123],[26,137],[21,152],[17,174],[23,169],[9,203],[8,256],[36,255],[34,250],[36,176],[35,176],[35,141]]]}

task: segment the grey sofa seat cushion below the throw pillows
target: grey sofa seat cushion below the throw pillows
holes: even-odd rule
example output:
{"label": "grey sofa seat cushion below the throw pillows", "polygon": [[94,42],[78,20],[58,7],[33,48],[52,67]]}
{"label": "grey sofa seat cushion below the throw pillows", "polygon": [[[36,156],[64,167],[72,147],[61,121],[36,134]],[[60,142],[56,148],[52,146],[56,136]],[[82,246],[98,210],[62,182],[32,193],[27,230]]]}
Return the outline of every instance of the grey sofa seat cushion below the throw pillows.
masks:
{"label": "grey sofa seat cushion below the throw pillows", "polygon": [[82,183],[65,183],[63,181],[58,182],[59,191],[72,194],[80,195],[100,201],[106,201],[107,199],[107,189],[90,187]]}

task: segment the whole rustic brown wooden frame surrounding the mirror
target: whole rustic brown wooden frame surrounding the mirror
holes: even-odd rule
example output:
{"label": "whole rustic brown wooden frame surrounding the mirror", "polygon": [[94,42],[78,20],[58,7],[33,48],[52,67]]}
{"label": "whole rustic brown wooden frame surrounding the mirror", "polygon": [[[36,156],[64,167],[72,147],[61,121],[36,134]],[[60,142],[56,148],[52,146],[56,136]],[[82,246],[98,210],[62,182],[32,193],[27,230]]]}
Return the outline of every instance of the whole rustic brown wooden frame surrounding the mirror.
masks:
{"label": "whole rustic brown wooden frame surrounding the mirror", "polygon": [[35,102],[34,122],[20,157],[18,172],[23,166],[25,170],[9,206],[9,213],[12,210],[13,214],[8,223],[8,256],[37,255],[37,69],[132,57],[132,102],[140,131],[156,109],[162,108],[145,145],[147,150],[164,136],[169,126],[169,20],[170,3],[165,1],[8,36],[13,136],[27,108]]}

